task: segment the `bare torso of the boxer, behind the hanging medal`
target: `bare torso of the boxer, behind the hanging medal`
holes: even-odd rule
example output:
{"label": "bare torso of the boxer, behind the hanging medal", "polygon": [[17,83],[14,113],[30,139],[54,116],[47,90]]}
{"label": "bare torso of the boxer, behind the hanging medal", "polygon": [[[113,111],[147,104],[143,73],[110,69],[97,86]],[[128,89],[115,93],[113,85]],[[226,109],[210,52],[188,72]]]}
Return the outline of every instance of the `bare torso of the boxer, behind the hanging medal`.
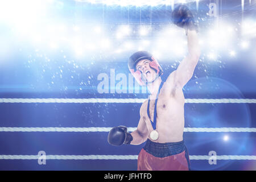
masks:
{"label": "bare torso of the boxer, behind the hanging medal", "polygon": [[[150,138],[150,133],[153,130],[150,119],[147,114],[148,100],[142,104],[142,117],[147,125],[148,138],[153,142],[180,142],[183,140],[184,130],[184,94],[182,88],[175,88],[164,83],[158,96],[156,107],[156,131],[159,133],[157,140]],[[151,121],[154,120],[155,100],[150,100],[149,114]]]}

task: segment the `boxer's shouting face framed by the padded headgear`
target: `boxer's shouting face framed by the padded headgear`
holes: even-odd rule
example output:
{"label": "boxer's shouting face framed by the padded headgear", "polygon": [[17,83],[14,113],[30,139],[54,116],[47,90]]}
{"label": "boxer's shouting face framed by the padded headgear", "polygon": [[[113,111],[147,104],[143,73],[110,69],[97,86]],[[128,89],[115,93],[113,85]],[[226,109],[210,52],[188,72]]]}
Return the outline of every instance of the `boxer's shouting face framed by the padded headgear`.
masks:
{"label": "boxer's shouting face framed by the padded headgear", "polygon": [[150,67],[150,60],[143,59],[139,61],[136,65],[136,70],[140,71],[148,82],[155,80],[156,72],[155,69]]}

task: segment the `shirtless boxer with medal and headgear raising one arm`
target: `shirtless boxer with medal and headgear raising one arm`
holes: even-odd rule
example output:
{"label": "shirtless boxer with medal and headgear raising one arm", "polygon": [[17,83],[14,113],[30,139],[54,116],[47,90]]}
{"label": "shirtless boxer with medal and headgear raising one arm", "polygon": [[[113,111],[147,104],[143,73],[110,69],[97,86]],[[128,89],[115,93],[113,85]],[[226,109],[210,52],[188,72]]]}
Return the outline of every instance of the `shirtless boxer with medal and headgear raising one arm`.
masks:
{"label": "shirtless boxer with medal and headgear raising one arm", "polygon": [[191,169],[183,141],[185,99],[182,89],[193,75],[200,47],[191,11],[179,5],[172,12],[172,19],[185,29],[188,55],[165,82],[160,77],[163,69],[149,52],[139,51],[131,55],[129,69],[139,84],[147,86],[150,97],[141,106],[141,118],[135,131],[127,133],[127,127],[118,126],[110,130],[108,136],[108,142],[114,146],[147,141],[138,155],[138,170],[142,171]]}

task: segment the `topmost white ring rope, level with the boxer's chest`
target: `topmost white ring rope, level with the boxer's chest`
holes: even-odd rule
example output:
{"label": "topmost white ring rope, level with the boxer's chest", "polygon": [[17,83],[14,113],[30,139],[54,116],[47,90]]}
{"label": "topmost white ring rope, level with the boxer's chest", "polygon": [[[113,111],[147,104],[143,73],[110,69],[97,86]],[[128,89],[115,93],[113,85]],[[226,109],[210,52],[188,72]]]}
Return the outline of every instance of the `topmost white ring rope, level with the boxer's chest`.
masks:
{"label": "topmost white ring rope, level with the boxer's chest", "polygon": [[[0,98],[0,103],[143,103],[146,98]],[[186,98],[195,104],[256,104],[254,98]]]}

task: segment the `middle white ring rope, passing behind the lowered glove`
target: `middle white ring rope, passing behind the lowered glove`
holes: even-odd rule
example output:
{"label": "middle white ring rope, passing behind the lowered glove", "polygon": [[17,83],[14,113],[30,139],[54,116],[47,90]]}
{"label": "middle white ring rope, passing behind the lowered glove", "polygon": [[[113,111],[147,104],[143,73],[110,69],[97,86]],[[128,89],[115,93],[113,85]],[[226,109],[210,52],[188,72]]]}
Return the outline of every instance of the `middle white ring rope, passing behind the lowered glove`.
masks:
{"label": "middle white ring rope, passing behind the lowered glove", "polygon": [[[0,127],[0,132],[109,132],[112,127]],[[136,127],[127,127],[134,131]],[[185,127],[184,132],[256,132],[250,127]]]}

